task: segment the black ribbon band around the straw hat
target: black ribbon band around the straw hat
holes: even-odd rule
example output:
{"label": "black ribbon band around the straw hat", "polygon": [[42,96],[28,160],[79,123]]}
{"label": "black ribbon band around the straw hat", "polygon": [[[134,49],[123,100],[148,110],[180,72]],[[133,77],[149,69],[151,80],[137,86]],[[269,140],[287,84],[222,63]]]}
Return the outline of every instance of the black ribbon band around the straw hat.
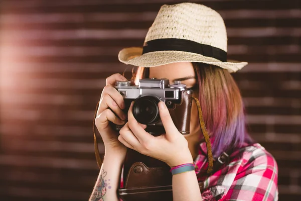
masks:
{"label": "black ribbon band around the straw hat", "polygon": [[147,41],[144,43],[142,54],[168,50],[191,52],[216,58],[222,62],[227,61],[227,52],[222,49],[197,43],[195,41],[177,38],[164,38]]}

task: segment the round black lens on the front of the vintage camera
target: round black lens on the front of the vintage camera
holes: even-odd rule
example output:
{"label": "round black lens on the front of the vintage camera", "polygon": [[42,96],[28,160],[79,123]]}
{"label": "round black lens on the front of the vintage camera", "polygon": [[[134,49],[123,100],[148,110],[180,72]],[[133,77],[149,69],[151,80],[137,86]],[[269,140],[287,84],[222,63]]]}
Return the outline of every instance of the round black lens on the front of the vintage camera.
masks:
{"label": "round black lens on the front of the vintage camera", "polygon": [[155,96],[142,96],[135,100],[133,115],[141,124],[153,124],[160,118],[158,103],[160,99]]}

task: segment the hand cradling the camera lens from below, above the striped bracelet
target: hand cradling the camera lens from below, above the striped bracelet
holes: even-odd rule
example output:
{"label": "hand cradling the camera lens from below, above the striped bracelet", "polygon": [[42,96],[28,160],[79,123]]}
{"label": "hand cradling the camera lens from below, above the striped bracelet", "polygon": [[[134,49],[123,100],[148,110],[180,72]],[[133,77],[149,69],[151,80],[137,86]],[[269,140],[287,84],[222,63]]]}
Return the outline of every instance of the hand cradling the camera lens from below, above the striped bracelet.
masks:
{"label": "hand cradling the camera lens from below, above the striped bracelet", "polygon": [[146,126],[139,124],[134,118],[133,103],[131,103],[128,110],[128,122],[119,131],[118,140],[126,147],[164,161],[171,167],[193,163],[188,142],[176,128],[165,103],[161,101],[158,106],[166,134],[155,137],[147,133],[144,130]]}

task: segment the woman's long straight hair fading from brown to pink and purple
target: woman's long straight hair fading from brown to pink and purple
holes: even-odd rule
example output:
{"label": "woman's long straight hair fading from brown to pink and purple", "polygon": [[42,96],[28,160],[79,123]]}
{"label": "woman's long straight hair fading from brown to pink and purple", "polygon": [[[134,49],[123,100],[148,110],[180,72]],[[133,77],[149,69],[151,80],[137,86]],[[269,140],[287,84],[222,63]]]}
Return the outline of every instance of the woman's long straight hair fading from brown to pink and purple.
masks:
{"label": "woman's long straight hair fading from brown to pink and purple", "polygon": [[[192,64],[197,76],[197,98],[213,141],[213,156],[218,157],[231,148],[252,143],[246,129],[242,97],[232,75],[226,69],[214,65]],[[138,67],[132,78],[137,83],[140,78],[147,78],[148,75],[149,68]]]}

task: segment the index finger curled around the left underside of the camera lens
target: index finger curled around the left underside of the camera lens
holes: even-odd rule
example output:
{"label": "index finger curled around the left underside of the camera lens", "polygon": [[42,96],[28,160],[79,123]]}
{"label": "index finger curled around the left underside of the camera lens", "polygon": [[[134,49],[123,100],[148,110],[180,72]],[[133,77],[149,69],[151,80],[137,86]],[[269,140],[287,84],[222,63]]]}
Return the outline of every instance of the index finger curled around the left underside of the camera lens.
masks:
{"label": "index finger curled around the left underside of the camera lens", "polygon": [[133,134],[138,138],[138,140],[142,143],[142,142],[146,142],[149,140],[152,140],[152,138],[154,138],[154,136],[150,135],[149,133],[147,133],[141,126],[141,124],[139,124],[137,122],[137,120],[134,118],[133,113],[132,113],[132,108],[133,108],[133,102],[130,104],[130,107],[128,109],[127,112],[127,119],[128,119],[128,127],[129,129],[133,132]]}

